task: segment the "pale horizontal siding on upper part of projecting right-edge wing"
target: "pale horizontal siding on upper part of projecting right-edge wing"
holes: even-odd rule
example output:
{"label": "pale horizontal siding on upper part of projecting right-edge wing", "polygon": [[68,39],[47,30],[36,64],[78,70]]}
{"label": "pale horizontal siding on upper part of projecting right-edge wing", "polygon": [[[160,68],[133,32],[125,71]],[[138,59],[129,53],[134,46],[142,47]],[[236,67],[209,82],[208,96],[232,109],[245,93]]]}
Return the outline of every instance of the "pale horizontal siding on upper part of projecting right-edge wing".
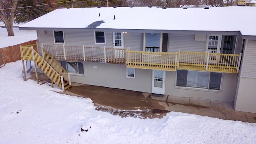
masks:
{"label": "pale horizontal siding on upper part of projecting right-edge wing", "polygon": [[256,78],[256,40],[248,40],[246,52],[243,57],[244,66],[242,77]]}

